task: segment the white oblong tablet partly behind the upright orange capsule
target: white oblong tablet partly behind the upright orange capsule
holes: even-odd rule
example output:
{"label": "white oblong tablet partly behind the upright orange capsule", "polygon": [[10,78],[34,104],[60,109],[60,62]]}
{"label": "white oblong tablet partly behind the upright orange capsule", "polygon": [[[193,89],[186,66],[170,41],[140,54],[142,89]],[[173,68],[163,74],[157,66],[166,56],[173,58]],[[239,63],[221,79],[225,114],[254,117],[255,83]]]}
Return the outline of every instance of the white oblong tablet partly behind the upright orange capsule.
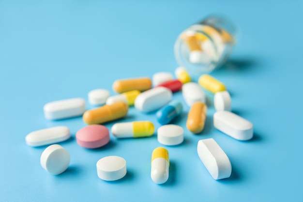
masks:
{"label": "white oblong tablet partly behind the upright orange capsule", "polygon": [[189,82],[184,84],[182,95],[188,106],[192,106],[196,101],[205,103],[205,93],[197,83]]}

